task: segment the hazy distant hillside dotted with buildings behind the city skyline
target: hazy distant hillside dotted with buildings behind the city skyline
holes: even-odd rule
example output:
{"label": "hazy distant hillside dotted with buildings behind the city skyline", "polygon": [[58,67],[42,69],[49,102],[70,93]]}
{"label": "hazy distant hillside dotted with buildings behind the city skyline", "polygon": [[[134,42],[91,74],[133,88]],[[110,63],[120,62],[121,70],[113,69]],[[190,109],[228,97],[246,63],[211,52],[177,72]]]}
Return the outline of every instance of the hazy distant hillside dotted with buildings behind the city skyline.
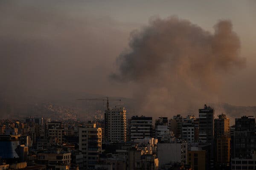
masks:
{"label": "hazy distant hillside dotted with buildings behind the city skyline", "polygon": [[[90,119],[103,119],[106,103],[103,101],[77,101],[78,98],[98,98],[104,95],[90,94],[86,92],[56,92],[51,96],[0,96],[0,119],[22,119],[24,116],[47,116],[52,119],[78,119],[81,121]],[[111,96],[112,97],[112,96]],[[122,105],[128,110],[128,117],[137,113],[136,103],[131,98],[112,97],[122,99]],[[118,101],[111,101],[110,106],[120,105]],[[202,106],[204,103],[202,103]],[[215,116],[226,113],[231,123],[234,118],[241,116],[256,116],[256,106],[236,106],[228,103],[211,103],[215,108]],[[198,109],[193,108],[194,115],[198,116]],[[188,113],[191,113],[188,111]],[[143,113],[147,114],[147,113]],[[159,113],[158,113],[159,114]],[[161,116],[157,113],[155,116]],[[177,113],[170,113],[169,119]],[[186,116],[185,114],[182,114]]]}

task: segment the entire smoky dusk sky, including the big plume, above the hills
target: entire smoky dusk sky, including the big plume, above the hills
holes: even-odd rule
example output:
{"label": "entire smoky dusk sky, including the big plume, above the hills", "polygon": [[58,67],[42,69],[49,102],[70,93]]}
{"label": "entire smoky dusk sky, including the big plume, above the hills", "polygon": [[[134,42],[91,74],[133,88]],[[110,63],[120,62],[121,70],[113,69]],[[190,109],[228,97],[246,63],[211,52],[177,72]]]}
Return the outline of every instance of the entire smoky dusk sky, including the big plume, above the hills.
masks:
{"label": "entire smoky dusk sky, including the big plume, above the hills", "polygon": [[11,107],[63,93],[124,97],[151,116],[254,106],[254,16],[253,0],[3,0],[0,95]]}

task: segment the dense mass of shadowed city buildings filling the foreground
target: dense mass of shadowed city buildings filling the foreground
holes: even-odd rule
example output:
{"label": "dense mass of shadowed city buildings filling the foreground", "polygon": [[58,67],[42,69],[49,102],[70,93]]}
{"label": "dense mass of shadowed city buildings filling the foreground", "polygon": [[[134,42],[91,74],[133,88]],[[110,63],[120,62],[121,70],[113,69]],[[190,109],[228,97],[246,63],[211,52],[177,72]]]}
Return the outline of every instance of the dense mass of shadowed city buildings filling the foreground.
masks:
{"label": "dense mass of shadowed city buildings filling the foreground", "polygon": [[41,116],[0,120],[0,167],[15,170],[241,170],[256,168],[253,116],[204,105],[199,115],[126,116],[82,122]]}

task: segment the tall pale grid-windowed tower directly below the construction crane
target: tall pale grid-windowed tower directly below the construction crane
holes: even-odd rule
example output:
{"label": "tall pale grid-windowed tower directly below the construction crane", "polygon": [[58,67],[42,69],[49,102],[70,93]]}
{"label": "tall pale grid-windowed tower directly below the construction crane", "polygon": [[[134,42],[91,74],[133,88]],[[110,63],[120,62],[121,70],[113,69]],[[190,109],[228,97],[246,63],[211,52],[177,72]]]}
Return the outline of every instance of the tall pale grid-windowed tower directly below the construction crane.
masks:
{"label": "tall pale grid-windowed tower directly below the construction crane", "polygon": [[105,112],[105,138],[108,142],[126,142],[126,110],[115,107]]}

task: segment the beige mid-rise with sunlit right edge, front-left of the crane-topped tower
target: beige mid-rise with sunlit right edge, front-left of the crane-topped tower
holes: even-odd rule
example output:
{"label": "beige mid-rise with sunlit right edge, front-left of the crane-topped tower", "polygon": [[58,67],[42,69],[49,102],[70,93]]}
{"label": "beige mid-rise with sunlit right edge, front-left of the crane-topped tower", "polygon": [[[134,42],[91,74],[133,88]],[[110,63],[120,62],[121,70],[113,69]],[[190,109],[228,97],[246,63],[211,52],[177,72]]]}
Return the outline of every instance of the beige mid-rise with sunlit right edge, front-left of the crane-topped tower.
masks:
{"label": "beige mid-rise with sunlit right edge, front-left of the crane-topped tower", "polygon": [[82,151],[84,167],[94,168],[102,150],[102,129],[96,124],[79,128],[79,150]]}

